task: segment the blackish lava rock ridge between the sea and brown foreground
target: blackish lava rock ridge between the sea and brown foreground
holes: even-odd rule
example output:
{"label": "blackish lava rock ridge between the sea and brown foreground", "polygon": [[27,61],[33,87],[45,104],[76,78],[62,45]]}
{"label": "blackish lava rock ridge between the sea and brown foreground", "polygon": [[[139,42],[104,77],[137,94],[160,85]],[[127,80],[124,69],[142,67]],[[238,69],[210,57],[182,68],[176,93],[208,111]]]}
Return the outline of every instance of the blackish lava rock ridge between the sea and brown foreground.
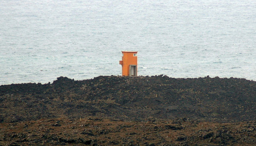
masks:
{"label": "blackish lava rock ridge between the sea and brown foreground", "polygon": [[0,86],[0,122],[99,116],[122,120],[256,119],[256,82],[237,78],[99,76]]}

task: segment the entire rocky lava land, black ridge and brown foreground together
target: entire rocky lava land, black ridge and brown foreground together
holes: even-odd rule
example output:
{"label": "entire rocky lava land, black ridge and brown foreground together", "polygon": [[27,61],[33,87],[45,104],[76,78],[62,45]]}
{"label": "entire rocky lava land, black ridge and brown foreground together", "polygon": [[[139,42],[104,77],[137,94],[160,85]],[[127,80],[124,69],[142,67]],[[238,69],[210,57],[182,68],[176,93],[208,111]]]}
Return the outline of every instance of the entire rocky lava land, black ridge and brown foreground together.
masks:
{"label": "entire rocky lava land, black ridge and brown foreground together", "polygon": [[256,144],[256,82],[99,76],[0,86],[0,146]]}

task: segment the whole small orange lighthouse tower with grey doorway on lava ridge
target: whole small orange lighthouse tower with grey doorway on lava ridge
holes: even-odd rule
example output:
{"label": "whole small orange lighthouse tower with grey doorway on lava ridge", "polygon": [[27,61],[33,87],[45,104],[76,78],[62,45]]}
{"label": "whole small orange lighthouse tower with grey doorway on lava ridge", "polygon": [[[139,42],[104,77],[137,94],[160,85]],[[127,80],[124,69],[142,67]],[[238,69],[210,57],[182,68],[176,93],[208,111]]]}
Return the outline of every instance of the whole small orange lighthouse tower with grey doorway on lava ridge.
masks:
{"label": "whole small orange lighthouse tower with grey doorway on lava ridge", "polygon": [[122,51],[122,76],[137,76],[137,52],[138,51]]}

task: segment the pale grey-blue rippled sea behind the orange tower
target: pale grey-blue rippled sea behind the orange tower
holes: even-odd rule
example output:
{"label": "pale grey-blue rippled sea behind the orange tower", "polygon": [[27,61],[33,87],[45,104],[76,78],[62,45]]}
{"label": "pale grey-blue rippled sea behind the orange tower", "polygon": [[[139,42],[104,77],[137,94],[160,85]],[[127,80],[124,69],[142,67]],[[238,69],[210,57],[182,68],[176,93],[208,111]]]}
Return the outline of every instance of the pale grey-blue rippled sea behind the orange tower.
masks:
{"label": "pale grey-blue rippled sea behind the orange tower", "polygon": [[0,85],[121,75],[256,81],[255,0],[0,0]]}

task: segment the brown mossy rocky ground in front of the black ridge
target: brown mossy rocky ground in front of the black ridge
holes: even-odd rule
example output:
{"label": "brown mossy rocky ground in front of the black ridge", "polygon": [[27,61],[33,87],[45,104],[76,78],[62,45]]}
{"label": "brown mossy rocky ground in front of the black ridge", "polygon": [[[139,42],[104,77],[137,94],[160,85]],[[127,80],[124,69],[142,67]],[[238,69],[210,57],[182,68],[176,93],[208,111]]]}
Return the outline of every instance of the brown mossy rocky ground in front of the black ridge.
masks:
{"label": "brown mossy rocky ground in front of the black ridge", "polygon": [[0,145],[255,146],[256,121],[201,122],[191,119],[146,122],[88,117],[0,124]]}

